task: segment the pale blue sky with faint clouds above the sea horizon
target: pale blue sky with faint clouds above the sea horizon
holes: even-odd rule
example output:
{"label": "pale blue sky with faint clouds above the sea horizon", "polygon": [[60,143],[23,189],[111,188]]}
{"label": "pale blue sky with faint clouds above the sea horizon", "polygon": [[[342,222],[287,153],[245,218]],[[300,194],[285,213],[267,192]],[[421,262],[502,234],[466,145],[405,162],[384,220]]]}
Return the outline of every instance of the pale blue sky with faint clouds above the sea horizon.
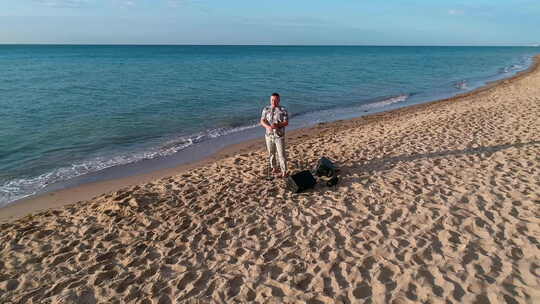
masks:
{"label": "pale blue sky with faint clouds above the sea horizon", "polygon": [[0,43],[540,43],[540,0],[1,0]]}

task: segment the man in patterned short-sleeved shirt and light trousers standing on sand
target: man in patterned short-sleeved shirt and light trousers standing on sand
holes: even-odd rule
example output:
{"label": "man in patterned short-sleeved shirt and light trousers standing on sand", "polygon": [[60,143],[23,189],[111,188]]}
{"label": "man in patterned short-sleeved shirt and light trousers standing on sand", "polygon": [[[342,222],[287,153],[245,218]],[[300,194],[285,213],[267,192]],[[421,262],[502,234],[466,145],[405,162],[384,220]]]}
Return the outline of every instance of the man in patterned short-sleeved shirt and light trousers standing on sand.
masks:
{"label": "man in patterned short-sleeved shirt and light trousers standing on sand", "polygon": [[266,148],[270,154],[272,173],[277,174],[276,152],[281,168],[280,177],[287,177],[287,155],[285,154],[285,127],[289,124],[289,114],[285,107],[279,105],[279,94],[270,96],[270,105],[263,109],[261,126],[266,129]]}

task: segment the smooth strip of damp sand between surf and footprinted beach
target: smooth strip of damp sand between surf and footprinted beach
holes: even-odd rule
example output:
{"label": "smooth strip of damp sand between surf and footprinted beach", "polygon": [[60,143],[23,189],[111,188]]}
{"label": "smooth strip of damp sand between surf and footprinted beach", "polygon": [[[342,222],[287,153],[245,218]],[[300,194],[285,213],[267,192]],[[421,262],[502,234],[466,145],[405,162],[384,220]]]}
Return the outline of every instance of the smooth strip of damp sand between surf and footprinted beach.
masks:
{"label": "smooth strip of damp sand between surf and footprinted beach", "polygon": [[[489,91],[495,87],[507,85],[518,81],[523,77],[526,77],[530,73],[536,71],[539,65],[540,55],[536,55],[533,57],[531,65],[526,70],[517,72],[516,74],[508,78],[487,82],[484,86],[481,86],[469,92],[460,93],[449,98],[427,101],[398,109],[367,114],[352,119],[323,122],[315,126],[302,127],[299,129],[291,130],[287,133],[287,140],[289,142],[288,145],[290,146],[291,144],[295,144],[298,141],[301,141],[302,138],[305,138],[306,136],[320,136],[321,133],[327,129],[345,130],[348,128],[363,125],[365,123],[376,123],[381,120],[392,119],[392,117],[394,116],[402,115],[405,113],[415,113],[418,111],[429,109],[433,106],[439,106],[448,102],[454,102],[474,95],[482,94],[483,92]],[[208,157],[204,157],[201,160],[188,162],[170,168],[153,170],[148,173],[135,174],[127,177],[84,183],[65,189],[39,193],[37,195],[32,195],[28,198],[16,200],[0,208],[0,223],[16,220],[37,211],[58,208],[73,203],[80,203],[82,201],[91,200],[92,198],[95,198],[99,195],[112,191],[118,191],[125,187],[149,183],[153,180],[178,175],[190,169],[199,168],[204,165],[219,162],[220,160],[236,154],[260,150],[264,150],[264,141],[262,137],[246,140],[237,144],[228,145],[225,148],[218,149],[217,152],[211,154]]]}

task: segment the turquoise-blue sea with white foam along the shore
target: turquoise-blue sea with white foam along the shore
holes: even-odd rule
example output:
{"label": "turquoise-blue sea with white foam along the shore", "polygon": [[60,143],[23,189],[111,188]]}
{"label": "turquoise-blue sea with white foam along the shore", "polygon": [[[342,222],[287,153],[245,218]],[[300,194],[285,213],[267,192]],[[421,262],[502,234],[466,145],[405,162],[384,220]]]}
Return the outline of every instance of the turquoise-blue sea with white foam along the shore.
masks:
{"label": "turquoise-blue sea with white foam along the shore", "polygon": [[538,51],[0,45],[0,206],[256,132],[272,92],[304,126],[472,90],[526,69]]}

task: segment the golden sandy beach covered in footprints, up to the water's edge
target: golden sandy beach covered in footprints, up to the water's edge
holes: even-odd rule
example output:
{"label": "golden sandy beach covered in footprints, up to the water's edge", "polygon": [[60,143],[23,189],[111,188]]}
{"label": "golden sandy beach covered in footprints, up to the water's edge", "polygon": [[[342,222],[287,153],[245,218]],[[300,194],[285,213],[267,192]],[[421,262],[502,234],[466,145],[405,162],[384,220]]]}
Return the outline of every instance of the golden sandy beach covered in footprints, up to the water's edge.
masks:
{"label": "golden sandy beach covered in footprints, up to the water's edge", "polygon": [[327,156],[335,188],[266,181],[255,140],[1,209],[0,302],[538,303],[538,60],[463,96],[291,132],[292,171]]}

